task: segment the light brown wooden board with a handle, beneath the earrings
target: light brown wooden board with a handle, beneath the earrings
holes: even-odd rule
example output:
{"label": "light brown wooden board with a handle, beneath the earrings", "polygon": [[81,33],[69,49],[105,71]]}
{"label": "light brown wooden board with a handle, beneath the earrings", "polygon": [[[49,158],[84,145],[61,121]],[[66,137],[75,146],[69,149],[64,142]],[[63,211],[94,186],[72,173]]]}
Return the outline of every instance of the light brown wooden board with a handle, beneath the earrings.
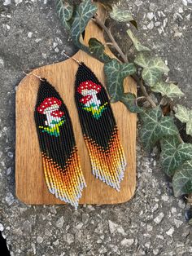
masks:
{"label": "light brown wooden board with a handle, beneath the earrings", "polygon": [[[103,20],[105,19],[105,11],[101,6],[98,9],[98,16]],[[93,21],[89,22],[85,31],[84,42],[86,44],[89,38],[98,38],[98,40],[104,42],[103,31]],[[111,51],[107,50],[107,53],[112,56]],[[82,51],[78,51],[74,57],[83,61],[96,74],[98,80],[105,84],[103,63]],[[116,192],[115,189],[95,179],[94,175],[91,174],[89,155],[85,147],[74,100],[74,82],[77,68],[78,64],[69,59],[58,64],[37,68],[33,70],[33,73],[46,77],[48,82],[55,86],[67,105],[72,118],[76,144],[81,158],[81,167],[87,183],[87,188],[83,191],[80,204],[102,205],[129,201],[134,194],[136,183],[136,115],[129,113],[124,104],[120,102],[112,104],[128,161],[120,192]],[[33,117],[38,86],[39,79],[37,77],[27,76],[20,82],[16,92],[16,195],[20,201],[27,204],[63,204],[48,192],[42,170],[41,153]],[[135,82],[130,77],[124,81],[124,90],[136,93]]]}

